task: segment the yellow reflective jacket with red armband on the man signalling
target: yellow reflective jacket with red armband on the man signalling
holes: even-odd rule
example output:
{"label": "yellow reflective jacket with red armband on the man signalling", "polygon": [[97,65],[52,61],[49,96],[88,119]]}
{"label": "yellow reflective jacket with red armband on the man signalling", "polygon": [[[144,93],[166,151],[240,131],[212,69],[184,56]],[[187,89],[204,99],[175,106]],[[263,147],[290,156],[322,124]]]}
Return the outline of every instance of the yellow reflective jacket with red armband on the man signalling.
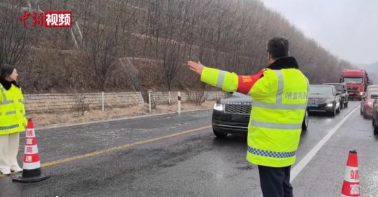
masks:
{"label": "yellow reflective jacket with red armband on the man signalling", "polygon": [[309,81],[296,68],[238,76],[203,68],[201,81],[226,92],[252,96],[247,160],[260,166],[286,167],[296,161],[302,121],[307,108]]}

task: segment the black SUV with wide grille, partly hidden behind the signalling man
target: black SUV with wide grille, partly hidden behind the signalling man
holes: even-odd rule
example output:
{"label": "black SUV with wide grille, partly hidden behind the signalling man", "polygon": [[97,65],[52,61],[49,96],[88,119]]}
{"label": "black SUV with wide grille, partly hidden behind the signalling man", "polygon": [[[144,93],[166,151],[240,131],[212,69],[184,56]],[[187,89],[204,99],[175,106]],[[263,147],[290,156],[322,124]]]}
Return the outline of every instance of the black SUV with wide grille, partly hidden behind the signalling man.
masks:
{"label": "black SUV with wide grille, partly hidden behind the signalling man", "polygon": [[[253,103],[251,96],[234,92],[230,98],[219,99],[212,111],[212,130],[216,137],[226,137],[228,133],[247,135],[249,117]],[[309,113],[302,122],[302,130],[309,127]]]}

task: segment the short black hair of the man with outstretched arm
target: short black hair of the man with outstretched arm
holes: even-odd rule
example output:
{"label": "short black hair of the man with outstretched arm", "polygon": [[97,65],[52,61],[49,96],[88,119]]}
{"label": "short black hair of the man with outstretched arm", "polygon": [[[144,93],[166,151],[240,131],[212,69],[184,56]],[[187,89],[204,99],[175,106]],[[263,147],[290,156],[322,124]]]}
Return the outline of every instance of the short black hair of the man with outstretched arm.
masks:
{"label": "short black hair of the man with outstretched arm", "polygon": [[274,60],[289,56],[289,41],[283,37],[271,38],[267,43],[267,52]]}

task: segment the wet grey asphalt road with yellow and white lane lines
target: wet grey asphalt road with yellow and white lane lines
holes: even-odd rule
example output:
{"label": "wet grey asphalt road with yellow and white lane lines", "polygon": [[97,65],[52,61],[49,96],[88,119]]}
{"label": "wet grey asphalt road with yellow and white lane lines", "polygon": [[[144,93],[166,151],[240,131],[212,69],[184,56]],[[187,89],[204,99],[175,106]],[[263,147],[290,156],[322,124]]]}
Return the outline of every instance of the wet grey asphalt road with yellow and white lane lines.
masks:
{"label": "wet grey asphalt road with yellow and white lane lines", "polygon": [[[310,117],[298,148],[301,164],[293,166],[295,196],[340,196],[352,149],[362,196],[378,196],[378,140],[371,120],[352,113],[357,105],[335,117]],[[258,170],[245,160],[246,138],[219,140],[210,123],[211,111],[203,110],[36,128],[42,170],[51,178],[25,184],[1,175],[0,196],[261,196]],[[22,152],[21,146],[19,161]]]}

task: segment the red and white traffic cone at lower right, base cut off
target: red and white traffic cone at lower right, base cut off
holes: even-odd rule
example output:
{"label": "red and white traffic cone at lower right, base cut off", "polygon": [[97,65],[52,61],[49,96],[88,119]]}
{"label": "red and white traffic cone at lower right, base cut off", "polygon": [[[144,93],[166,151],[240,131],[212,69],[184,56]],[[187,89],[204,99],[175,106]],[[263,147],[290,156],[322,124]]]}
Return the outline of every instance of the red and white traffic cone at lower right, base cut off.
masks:
{"label": "red and white traffic cone at lower right, base cut off", "polygon": [[357,151],[349,151],[344,183],[342,184],[342,196],[360,196],[359,194],[359,171]]}

